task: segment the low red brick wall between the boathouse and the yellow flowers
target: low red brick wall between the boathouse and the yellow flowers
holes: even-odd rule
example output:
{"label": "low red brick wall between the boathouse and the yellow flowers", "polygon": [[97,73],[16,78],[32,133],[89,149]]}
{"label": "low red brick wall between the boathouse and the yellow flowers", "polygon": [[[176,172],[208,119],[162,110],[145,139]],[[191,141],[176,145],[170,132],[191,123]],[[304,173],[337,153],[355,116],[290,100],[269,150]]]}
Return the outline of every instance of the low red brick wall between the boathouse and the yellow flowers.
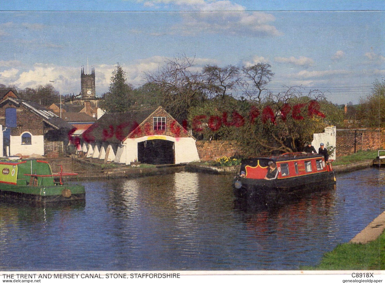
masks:
{"label": "low red brick wall between the boathouse and the yellow flowers", "polygon": [[241,154],[236,142],[231,141],[196,141],[196,148],[201,161],[215,160],[222,156],[231,157]]}

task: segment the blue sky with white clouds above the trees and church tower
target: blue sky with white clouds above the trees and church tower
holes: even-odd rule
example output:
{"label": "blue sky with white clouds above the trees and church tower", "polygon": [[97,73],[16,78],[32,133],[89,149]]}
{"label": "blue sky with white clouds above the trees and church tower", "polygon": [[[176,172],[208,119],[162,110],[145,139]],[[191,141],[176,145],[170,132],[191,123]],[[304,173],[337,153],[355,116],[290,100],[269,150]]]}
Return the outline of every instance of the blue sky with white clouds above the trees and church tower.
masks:
{"label": "blue sky with white clouds above the trees and church tower", "polygon": [[[108,91],[119,63],[139,87],[146,73],[184,54],[208,64],[259,62],[275,73],[269,90],[321,90],[333,103],[359,103],[385,75],[381,1],[3,0],[0,84],[51,83],[79,94],[80,70],[95,68]],[[87,67],[88,60],[88,67]]]}

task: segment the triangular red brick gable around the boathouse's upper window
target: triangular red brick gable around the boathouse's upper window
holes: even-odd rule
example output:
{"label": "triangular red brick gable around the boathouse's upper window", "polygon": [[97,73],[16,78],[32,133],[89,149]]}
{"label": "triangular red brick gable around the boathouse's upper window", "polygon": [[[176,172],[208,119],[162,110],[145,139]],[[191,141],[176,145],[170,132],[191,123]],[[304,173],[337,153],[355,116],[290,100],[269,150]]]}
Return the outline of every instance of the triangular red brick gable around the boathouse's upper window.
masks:
{"label": "triangular red brick gable around the boathouse's upper window", "polygon": [[[166,130],[154,131],[153,130],[153,118],[154,117],[166,117]],[[133,132],[129,135],[129,138],[138,138],[150,135],[164,135],[171,137],[190,137],[190,135],[179,126],[179,124],[169,115],[163,108],[157,109],[146,121],[141,125],[140,131]]]}

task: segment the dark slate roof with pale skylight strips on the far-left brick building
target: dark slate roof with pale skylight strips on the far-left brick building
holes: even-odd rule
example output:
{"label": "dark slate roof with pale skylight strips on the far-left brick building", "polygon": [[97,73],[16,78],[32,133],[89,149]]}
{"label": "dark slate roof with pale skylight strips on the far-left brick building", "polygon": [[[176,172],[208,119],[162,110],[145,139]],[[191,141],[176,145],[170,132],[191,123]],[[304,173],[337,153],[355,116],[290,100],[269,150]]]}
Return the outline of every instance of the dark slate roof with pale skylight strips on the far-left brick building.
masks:
{"label": "dark slate roof with pale skylight strips on the far-left brick building", "polygon": [[19,98],[8,97],[7,99],[3,100],[0,104],[4,104],[7,102],[13,102],[18,106],[23,106],[27,108],[29,111],[33,112],[34,114],[42,118],[44,122],[46,122],[47,124],[49,124],[50,126],[54,127],[57,130],[63,129],[63,128],[67,128],[67,129],[73,128],[72,125],[60,119],[60,117],[57,116],[54,112],[47,111],[47,109],[45,109],[44,107],[42,107],[41,105],[35,102],[19,99]]}

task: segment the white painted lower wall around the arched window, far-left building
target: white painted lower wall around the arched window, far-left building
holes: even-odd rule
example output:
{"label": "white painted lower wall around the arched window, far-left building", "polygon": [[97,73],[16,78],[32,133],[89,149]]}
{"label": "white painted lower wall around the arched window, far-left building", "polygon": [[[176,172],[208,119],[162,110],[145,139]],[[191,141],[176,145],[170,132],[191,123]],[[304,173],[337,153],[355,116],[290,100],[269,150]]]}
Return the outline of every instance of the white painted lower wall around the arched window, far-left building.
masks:
{"label": "white painted lower wall around the arched window, far-left building", "polygon": [[10,155],[44,155],[44,136],[33,136],[30,132],[27,133],[31,135],[32,144],[22,144],[22,134],[20,136],[11,136]]}

